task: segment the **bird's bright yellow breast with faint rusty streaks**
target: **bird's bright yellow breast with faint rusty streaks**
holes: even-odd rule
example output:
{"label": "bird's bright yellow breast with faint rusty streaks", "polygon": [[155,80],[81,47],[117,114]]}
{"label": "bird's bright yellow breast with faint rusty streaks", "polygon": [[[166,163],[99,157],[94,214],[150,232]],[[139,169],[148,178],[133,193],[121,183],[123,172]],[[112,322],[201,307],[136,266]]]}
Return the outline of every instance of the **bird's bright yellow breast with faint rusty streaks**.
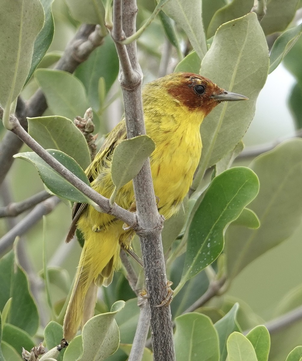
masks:
{"label": "bird's bright yellow breast with faint rusty streaks", "polygon": [[150,157],[159,213],[165,218],[178,212],[192,184],[201,155],[199,126],[175,127],[153,136],[156,149]]}

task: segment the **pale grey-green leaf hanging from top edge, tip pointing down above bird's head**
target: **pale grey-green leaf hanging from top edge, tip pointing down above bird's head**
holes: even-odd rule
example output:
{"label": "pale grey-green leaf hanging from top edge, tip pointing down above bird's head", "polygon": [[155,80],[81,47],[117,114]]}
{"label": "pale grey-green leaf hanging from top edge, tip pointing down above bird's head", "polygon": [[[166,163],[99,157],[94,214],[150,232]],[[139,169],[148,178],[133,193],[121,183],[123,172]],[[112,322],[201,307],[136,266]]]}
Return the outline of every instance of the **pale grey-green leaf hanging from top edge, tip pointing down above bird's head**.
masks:
{"label": "pale grey-green leaf hanging from top edge, tip pointing down above bird's head", "polygon": [[193,49],[202,59],[207,52],[207,45],[202,25],[201,1],[170,0],[162,10],[183,28]]}

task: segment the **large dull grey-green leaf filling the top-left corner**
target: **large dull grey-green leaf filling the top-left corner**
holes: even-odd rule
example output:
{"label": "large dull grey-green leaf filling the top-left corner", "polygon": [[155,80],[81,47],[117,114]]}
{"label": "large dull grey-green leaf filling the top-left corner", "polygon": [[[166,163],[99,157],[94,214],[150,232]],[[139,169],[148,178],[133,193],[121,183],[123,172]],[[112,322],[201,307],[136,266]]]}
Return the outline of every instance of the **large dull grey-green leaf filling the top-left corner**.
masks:
{"label": "large dull grey-green leaf filling the top-left corner", "polygon": [[25,83],[44,12],[39,0],[1,0],[0,7],[0,103],[6,108]]}

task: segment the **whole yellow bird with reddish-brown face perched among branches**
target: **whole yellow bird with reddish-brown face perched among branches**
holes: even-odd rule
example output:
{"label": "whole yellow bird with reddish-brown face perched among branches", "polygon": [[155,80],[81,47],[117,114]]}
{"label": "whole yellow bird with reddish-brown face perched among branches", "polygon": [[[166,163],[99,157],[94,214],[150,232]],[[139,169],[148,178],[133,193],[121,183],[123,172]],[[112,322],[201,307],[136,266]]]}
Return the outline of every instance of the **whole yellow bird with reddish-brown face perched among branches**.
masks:
{"label": "whole yellow bird with reddish-brown face perched among branches", "polygon": [[[166,219],[178,212],[192,184],[201,155],[200,125],[203,118],[222,101],[247,97],[227,92],[209,79],[193,73],[173,73],[143,89],[146,134],[156,144],[150,165],[158,211]],[[91,187],[109,198],[114,186],[110,167],[115,147],[126,139],[124,119],[110,132],[86,170]],[[134,201],[132,181],[123,186],[115,202],[129,209]],[[123,222],[99,213],[88,204],[75,204],[73,222],[66,241],[76,228],[84,236],[84,247],[73,291],[64,318],[64,338],[74,338],[80,325],[93,316],[97,287],[108,286],[113,272],[121,267],[121,244],[128,247],[133,230],[124,231]]]}

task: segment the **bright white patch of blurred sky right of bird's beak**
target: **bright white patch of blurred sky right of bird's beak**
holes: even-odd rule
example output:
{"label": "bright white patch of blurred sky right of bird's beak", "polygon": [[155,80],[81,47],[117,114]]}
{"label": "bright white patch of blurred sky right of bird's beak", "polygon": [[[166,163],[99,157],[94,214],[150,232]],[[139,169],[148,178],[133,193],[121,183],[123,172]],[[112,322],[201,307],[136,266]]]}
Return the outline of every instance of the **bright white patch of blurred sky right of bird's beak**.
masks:
{"label": "bright white patch of blurred sky right of bird's beak", "polygon": [[246,147],[294,133],[293,118],[287,105],[294,83],[294,77],[282,64],[268,75],[257,100],[255,117],[243,138]]}

